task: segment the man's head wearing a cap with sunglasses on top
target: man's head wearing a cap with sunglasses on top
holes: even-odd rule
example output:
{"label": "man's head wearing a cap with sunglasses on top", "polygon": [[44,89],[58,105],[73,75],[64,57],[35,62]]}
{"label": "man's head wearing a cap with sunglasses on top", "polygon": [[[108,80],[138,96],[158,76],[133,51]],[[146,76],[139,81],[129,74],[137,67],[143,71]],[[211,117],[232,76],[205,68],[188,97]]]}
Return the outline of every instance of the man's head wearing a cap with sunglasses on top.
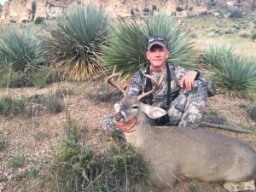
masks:
{"label": "man's head wearing a cap with sunglasses on top", "polygon": [[147,58],[154,72],[161,72],[166,67],[166,59],[169,56],[166,38],[161,36],[148,38]]}

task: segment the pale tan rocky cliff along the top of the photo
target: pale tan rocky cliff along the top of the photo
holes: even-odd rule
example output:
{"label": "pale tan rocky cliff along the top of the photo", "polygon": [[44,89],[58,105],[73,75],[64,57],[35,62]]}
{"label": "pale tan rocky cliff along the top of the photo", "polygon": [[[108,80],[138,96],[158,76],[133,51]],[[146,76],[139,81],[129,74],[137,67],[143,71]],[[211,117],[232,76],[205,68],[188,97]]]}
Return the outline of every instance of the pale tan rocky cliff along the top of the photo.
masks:
{"label": "pale tan rocky cliff along the top of the photo", "polygon": [[256,0],[9,0],[0,9],[0,22],[21,22],[37,17],[53,18],[78,4],[93,3],[112,15],[131,16],[166,12],[177,16],[199,15],[209,6],[230,6],[242,11],[256,9]]}

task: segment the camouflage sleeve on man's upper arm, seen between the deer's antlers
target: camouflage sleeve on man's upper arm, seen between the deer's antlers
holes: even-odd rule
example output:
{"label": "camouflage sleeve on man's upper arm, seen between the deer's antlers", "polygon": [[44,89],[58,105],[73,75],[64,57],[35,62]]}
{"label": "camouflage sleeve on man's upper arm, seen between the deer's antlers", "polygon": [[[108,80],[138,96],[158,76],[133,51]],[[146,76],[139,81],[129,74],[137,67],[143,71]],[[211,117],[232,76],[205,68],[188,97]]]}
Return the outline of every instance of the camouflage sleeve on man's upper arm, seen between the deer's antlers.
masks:
{"label": "camouflage sleeve on man's upper arm, seen between the deer's antlers", "polygon": [[129,96],[138,96],[142,93],[143,90],[143,74],[139,71],[134,74],[130,80],[128,95]]}

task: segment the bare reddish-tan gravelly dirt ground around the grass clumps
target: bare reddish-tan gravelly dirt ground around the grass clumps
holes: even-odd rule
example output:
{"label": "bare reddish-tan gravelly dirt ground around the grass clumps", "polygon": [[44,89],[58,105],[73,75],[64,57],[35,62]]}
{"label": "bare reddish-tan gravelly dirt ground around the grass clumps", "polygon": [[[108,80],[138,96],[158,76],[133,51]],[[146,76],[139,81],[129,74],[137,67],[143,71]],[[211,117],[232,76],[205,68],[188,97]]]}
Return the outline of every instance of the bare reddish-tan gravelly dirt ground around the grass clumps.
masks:
{"label": "bare reddish-tan gravelly dirt ground around the grass clumps", "polygon": [[[39,113],[37,119],[24,116],[24,114],[11,119],[1,116],[1,138],[8,138],[7,148],[0,152],[0,174],[2,178],[8,178],[7,181],[0,181],[0,187],[2,184],[4,192],[51,191],[48,186],[36,179],[25,179],[25,181],[20,182],[19,179],[13,178],[17,171],[9,168],[7,162],[10,157],[20,154],[26,160],[30,160],[30,164],[20,168],[18,172],[26,172],[26,169],[30,166],[36,166],[40,172],[44,172],[53,155],[55,155],[56,143],[64,134],[63,126],[68,117],[79,123],[85,141],[91,148],[98,151],[102,150],[102,142],[99,139],[102,134],[101,122],[102,119],[114,113],[113,103],[119,99],[113,97],[108,102],[98,101],[98,95],[101,95],[99,90],[103,90],[105,93],[108,90],[108,84],[104,80],[77,84],[61,82],[51,84],[41,90],[37,88],[2,89],[0,92],[1,95],[9,93],[12,96],[32,96],[34,94],[50,94],[63,88],[73,89],[74,94],[65,97],[66,109],[61,113]],[[232,125],[256,130],[255,122],[249,116],[250,109],[253,106],[256,106],[255,99],[239,99],[218,94],[208,99],[207,112],[214,111],[214,113],[218,113],[218,116],[227,119]],[[201,129],[239,138],[256,149],[256,135],[224,131],[217,128],[201,127]],[[182,183],[177,183],[170,192],[172,191],[224,192],[225,190],[221,183],[204,183],[188,179]]]}

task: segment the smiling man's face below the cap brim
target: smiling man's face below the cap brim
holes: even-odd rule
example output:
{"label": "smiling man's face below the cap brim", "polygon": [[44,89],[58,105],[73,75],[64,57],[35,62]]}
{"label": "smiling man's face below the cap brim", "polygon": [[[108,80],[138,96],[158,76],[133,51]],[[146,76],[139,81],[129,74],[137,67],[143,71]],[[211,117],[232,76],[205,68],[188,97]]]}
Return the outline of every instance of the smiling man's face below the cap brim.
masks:
{"label": "smiling man's face below the cap brim", "polygon": [[154,45],[147,51],[147,58],[152,67],[165,67],[166,59],[168,58],[169,50],[160,45]]}

